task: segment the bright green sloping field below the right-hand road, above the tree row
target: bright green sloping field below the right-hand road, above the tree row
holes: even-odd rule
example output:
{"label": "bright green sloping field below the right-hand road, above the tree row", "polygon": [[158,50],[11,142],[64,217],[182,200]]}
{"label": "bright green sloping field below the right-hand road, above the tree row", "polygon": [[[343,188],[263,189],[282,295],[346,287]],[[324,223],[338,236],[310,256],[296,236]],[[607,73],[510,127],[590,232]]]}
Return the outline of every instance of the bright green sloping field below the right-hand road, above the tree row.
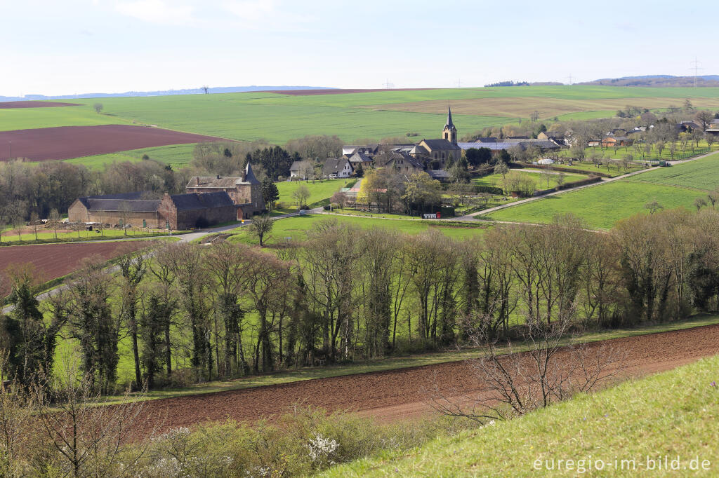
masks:
{"label": "bright green sloping field below the right-hand road, above the tree row", "polygon": [[590,228],[610,229],[620,219],[638,212],[649,213],[644,208],[648,202],[656,200],[665,208],[691,208],[698,196],[703,195],[692,189],[620,179],[510,206],[492,212],[488,217],[502,221],[548,223],[557,215],[571,212],[585,220]]}

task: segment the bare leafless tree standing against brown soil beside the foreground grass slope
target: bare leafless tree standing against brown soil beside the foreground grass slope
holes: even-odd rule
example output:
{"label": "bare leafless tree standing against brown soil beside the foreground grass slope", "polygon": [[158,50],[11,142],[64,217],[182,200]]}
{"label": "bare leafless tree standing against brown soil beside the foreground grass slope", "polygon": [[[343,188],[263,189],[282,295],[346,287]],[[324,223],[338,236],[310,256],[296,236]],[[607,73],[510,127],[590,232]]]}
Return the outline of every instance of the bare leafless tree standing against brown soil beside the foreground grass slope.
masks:
{"label": "bare leafless tree standing against brown soil beside the foreground grass slope", "polygon": [[[474,337],[486,352],[485,357],[470,360],[469,364],[477,382],[488,392],[467,395],[435,385],[431,406],[443,415],[480,423],[505,420],[566,400],[575,393],[596,390],[623,372],[628,351],[609,344],[572,343],[562,347],[568,327],[568,321],[528,323],[521,345],[508,342],[503,349],[486,336]],[[525,347],[527,352],[522,351]]]}

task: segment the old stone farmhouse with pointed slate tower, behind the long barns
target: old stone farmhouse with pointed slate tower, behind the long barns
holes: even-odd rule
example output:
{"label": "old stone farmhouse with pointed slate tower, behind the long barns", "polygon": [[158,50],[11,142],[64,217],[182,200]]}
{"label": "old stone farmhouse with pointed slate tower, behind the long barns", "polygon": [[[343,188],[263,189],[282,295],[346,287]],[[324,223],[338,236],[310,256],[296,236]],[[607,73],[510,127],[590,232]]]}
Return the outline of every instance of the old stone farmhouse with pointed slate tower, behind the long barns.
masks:
{"label": "old stone farmhouse with pointed slate tower, behind the long barns", "polygon": [[226,192],[238,207],[238,219],[247,219],[267,209],[265,199],[262,197],[262,184],[255,177],[249,163],[241,177],[195,176],[187,183],[185,190],[202,194]]}

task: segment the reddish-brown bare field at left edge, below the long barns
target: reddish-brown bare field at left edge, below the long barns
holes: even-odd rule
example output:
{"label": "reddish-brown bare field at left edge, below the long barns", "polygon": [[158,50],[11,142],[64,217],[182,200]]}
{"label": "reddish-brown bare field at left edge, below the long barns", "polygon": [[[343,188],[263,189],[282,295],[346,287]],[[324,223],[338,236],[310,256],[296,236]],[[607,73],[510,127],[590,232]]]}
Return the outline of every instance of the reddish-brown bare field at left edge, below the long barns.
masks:
{"label": "reddish-brown bare field at left edge, below the long barns", "polygon": [[[10,245],[0,247],[0,274],[11,264],[32,263],[40,281],[51,281],[74,271],[81,259],[100,256],[105,260],[119,255],[122,242],[80,244]],[[0,296],[9,294],[8,281],[0,282]]]}

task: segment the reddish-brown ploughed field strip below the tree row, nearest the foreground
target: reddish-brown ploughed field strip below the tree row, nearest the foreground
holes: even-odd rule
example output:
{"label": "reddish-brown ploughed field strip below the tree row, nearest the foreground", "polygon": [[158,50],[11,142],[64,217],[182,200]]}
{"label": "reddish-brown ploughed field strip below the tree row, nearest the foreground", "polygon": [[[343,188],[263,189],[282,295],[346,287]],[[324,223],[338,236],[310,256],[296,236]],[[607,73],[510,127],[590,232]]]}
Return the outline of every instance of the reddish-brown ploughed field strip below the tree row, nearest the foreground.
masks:
{"label": "reddish-brown ploughed field strip below the tree row, nearest the foreground", "polygon": [[[663,332],[601,342],[628,352],[626,375],[638,377],[669,370],[719,353],[719,325]],[[592,350],[600,342],[590,345]],[[192,426],[202,421],[233,418],[255,421],[287,411],[301,403],[328,410],[348,410],[383,421],[412,418],[431,412],[425,390],[438,384],[444,390],[481,394],[485,390],[465,362],[412,367],[386,372],[306,380],[245,390],[153,400],[146,416],[165,418],[163,428]],[[149,431],[138,429],[139,435]]]}

